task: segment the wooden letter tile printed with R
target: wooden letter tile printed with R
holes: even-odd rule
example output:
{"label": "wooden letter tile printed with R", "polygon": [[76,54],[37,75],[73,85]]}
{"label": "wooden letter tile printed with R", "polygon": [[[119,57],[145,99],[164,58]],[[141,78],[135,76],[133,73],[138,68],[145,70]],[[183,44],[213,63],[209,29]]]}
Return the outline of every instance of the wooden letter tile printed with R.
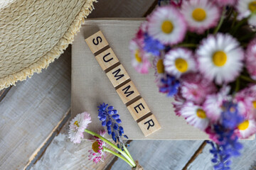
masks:
{"label": "wooden letter tile printed with R", "polygon": [[149,117],[140,121],[138,125],[145,137],[161,129],[161,126],[159,125],[154,115],[150,115]]}

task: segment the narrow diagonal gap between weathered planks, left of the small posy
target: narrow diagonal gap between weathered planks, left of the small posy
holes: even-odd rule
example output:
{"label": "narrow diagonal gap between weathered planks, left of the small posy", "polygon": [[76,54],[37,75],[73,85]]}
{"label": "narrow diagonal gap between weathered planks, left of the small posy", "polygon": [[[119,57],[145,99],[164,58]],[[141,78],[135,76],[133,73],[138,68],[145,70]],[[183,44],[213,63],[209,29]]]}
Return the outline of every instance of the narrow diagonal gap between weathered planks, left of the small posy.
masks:
{"label": "narrow diagonal gap between weathered planks, left of the small posy", "polygon": [[36,162],[41,159],[43,156],[43,153],[46,151],[47,147],[50,145],[50,142],[53,141],[54,137],[58,135],[60,130],[63,128],[65,123],[68,122],[68,119],[71,116],[71,108],[68,108],[68,111],[65,113],[63,118],[59,121],[59,123],[55,126],[52,132],[50,132],[50,135],[46,138],[46,140],[43,142],[43,144],[36,149],[36,151],[31,155],[31,157],[28,160],[28,164],[24,167],[25,170],[31,169],[31,166],[33,164],[36,164]]}

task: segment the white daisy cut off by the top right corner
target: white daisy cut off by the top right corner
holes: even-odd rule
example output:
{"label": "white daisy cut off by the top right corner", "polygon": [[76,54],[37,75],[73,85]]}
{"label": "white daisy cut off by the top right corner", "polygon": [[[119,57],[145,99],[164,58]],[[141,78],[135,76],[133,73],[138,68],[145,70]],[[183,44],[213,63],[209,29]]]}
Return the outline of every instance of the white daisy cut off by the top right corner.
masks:
{"label": "white daisy cut off by the top right corner", "polygon": [[248,23],[252,26],[256,26],[256,1],[255,0],[238,0],[238,12],[239,18],[247,18]]}

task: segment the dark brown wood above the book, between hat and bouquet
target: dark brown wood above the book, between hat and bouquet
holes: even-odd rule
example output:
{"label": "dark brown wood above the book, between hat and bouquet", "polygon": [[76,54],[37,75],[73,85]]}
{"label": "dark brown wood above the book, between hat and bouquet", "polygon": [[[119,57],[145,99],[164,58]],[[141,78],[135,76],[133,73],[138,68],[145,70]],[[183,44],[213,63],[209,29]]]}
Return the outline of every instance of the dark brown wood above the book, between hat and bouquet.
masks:
{"label": "dark brown wood above the book, between hat and bouquet", "polygon": [[143,17],[156,0],[98,0],[88,18]]}

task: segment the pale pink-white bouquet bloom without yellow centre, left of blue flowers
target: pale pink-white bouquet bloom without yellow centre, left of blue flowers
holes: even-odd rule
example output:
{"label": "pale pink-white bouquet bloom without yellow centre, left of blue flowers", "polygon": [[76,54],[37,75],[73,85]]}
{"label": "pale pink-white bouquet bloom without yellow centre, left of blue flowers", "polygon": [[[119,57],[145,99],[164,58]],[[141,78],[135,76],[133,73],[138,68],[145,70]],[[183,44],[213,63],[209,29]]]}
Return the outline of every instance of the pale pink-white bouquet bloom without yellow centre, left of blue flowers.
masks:
{"label": "pale pink-white bouquet bloom without yellow centre, left of blue flowers", "polygon": [[203,109],[206,111],[206,115],[211,122],[219,120],[223,111],[221,108],[223,101],[229,101],[231,99],[231,97],[228,96],[229,92],[230,86],[224,86],[220,89],[218,94],[210,94],[206,96],[206,101],[203,103]]}

